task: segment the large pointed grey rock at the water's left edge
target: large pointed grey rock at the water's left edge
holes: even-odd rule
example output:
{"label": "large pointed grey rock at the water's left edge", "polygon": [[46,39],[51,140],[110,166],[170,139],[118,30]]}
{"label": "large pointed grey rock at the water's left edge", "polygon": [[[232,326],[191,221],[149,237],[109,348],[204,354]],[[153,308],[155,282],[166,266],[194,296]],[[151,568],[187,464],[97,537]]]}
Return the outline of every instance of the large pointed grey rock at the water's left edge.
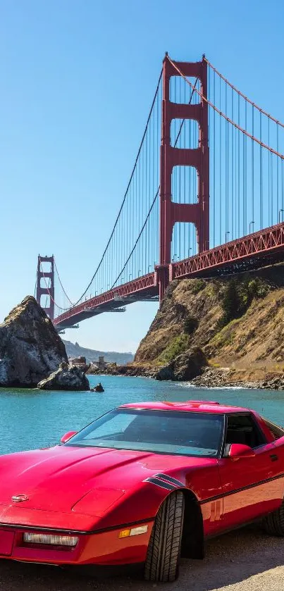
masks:
{"label": "large pointed grey rock at the water's left edge", "polygon": [[51,320],[27,296],[0,324],[0,386],[35,387],[67,361]]}

